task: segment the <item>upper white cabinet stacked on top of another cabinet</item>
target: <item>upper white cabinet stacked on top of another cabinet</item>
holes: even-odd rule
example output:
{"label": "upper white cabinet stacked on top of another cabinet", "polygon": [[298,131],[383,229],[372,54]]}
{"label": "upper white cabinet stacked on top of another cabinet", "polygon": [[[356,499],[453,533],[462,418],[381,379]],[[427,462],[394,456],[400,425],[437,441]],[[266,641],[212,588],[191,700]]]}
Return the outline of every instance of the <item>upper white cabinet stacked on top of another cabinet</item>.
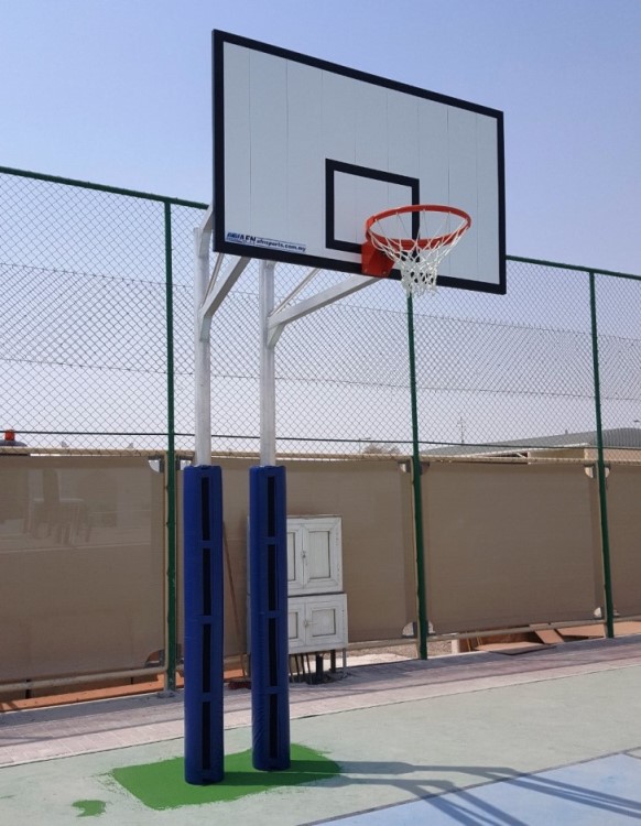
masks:
{"label": "upper white cabinet stacked on top of another cabinet", "polygon": [[287,593],[343,590],[340,517],[287,519]]}

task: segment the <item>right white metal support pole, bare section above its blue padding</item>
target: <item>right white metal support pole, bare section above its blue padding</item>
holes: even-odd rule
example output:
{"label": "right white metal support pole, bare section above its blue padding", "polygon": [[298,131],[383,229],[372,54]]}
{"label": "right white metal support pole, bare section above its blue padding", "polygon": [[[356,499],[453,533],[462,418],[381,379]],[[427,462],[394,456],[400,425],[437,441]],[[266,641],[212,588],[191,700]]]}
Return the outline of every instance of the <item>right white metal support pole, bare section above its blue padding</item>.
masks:
{"label": "right white metal support pole, bare section above its blue padding", "polygon": [[276,464],[275,341],[269,340],[269,319],[274,308],[274,261],[261,261],[260,307],[260,464]]}

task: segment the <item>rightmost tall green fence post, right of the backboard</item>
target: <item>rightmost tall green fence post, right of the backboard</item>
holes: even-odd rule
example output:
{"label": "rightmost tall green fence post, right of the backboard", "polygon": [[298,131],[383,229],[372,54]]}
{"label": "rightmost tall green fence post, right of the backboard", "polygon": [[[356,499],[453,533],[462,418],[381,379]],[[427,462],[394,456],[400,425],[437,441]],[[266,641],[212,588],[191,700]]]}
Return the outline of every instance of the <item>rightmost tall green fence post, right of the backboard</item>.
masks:
{"label": "rightmost tall green fence post, right of the backboard", "polygon": [[610,564],[610,533],[608,529],[608,492],[606,481],[606,463],[604,460],[604,428],[601,422],[601,384],[599,378],[599,339],[597,330],[597,298],[595,273],[589,273],[590,282],[590,320],[593,338],[593,376],[595,382],[595,414],[597,426],[597,474],[599,481],[599,510],[601,518],[601,556],[604,566],[604,595],[606,612],[606,635],[615,635],[615,604],[612,599],[612,572]]}

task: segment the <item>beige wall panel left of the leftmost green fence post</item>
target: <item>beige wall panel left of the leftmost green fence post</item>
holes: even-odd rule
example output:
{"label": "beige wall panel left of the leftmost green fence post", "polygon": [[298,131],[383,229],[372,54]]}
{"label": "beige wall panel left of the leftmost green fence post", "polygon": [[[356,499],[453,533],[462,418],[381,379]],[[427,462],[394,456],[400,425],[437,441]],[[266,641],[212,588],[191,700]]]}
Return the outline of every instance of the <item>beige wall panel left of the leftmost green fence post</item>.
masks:
{"label": "beige wall panel left of the leftmost green fence post", "polygon": [[0,459],[0,681],[163,648],[163,478],[143,458]]}

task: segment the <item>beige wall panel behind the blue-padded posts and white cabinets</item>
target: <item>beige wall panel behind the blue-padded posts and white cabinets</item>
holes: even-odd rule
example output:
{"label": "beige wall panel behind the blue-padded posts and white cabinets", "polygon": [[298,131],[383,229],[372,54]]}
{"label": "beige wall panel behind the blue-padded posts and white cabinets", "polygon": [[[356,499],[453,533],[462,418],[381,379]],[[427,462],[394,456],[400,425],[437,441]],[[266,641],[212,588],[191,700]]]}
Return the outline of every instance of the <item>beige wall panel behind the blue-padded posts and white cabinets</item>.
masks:
{"label": "beige wall panel behind the blue-padded posts and white cabinets", "polygon": [[[247,515],[249,468],[224,459],[224,517],[238,622],[229,577],[225,583],[225,652],[247,644]],[[287,515],[343,518],[343,585],[349,641],[398,639],[415,617],[411,534],[403,520],[403,481],[394,459],[292,461],[287,467]],[[405,482],[406,488],[406,482]],[[182,556],[182,539],[180,541]],[[408,584],[408,576],[412,582]],[[182,576],[181,576],[182,582]],[[182,639],[182,588],[181,639]]]}

